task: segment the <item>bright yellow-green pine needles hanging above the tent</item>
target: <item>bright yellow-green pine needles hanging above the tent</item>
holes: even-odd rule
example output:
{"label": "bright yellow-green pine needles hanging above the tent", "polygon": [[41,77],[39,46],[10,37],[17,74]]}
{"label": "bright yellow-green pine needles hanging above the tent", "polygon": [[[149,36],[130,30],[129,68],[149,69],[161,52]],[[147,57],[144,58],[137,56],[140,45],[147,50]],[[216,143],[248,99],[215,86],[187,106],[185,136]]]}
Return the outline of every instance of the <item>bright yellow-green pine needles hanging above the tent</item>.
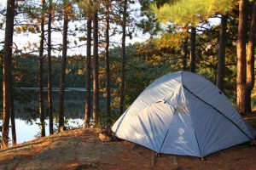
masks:
{"label": "bright yellow-green pine needles hanging above the tent", "polygon": [[172,22],[178,26],[191,24],[196,26],[214,14],[226,14],[234,7],[233,0],[180,0],[175,3],[165,3],[160,8],[151,3],[150,8],[160,22]]}

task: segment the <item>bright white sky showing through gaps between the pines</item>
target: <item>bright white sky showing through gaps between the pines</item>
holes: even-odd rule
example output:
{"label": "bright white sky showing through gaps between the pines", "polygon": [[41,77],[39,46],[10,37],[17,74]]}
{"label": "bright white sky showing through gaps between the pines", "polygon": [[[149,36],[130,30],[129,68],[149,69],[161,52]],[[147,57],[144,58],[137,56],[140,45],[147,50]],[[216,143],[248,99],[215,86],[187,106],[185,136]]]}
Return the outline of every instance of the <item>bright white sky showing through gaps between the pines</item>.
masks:
{"label": "bright white sky showing through gaps between the pines", "polygon": [[[6,0],[0,0],[0,7],[5,7],[6,4]],[[131,8],[139,8],[139,3],[135,3],[134,6],[132,6]],[[85,21],[84,21],[85,22]],[[84,23],[81,22],[76,22],[76,23],[69,23],[69,26],[71,28],[73,28],[74,25],[77,26],[82,26]],[[47,26],[45,26],[45,29],[47,29]],[[85,32],[84,32],[85,33]],[[81,34],[82,35],[82,34]],[[139,35],[139,36],[138,36]],[[126,44],[129,43],[134,43],[134,42],[143,42],[146,41],[148,39],[148,35],[143,35],[142,32],[137,31],[137,37],[135,37],[135,34],[133,35],[134,37],[132,39],[130,39],[129,37],[126,37]],[[114,37],[111,37],[110,42],[114,42],[115,44],[121,44],[121,37],[122,35],[117,35]],[[4,31],[0,30],[0,42],[4,41]],[[61,43],[62,42],[62,35],[60,32],[53,32],[52,33],[52,41],[57,42],[57,43]],[[73,37],[73,36],[68,36],[68,41],[69,42],[74,42],[77,41],[79,44],[84,44],[85,42],[79,42],[77,37]],[[28,33],[28,34],[23,34],[23,33],[15,33],[14,34],[14,42],[16,44],[16,46],[19,49],[23,49],[24,47],[27,47],[28,44],[33,44],[33,43],[37,43],[39,44],[40,42],[40,35],[39,34],[32,34],[32,33]],[[72,47],[74,47],[74,44],[70,44]],[[76,46],[75,46],[76,47]],[[24,51],[23,52],[29,52],[29,50]],[[53,51],[54,55],[61,55],[61,51]],[[82,47],[77,47],[77,48],[73,48],[73,49],[68,49],[67,51],[67,55],[75,55],[75,54],[86,54],[86,46],[83,45]]]}

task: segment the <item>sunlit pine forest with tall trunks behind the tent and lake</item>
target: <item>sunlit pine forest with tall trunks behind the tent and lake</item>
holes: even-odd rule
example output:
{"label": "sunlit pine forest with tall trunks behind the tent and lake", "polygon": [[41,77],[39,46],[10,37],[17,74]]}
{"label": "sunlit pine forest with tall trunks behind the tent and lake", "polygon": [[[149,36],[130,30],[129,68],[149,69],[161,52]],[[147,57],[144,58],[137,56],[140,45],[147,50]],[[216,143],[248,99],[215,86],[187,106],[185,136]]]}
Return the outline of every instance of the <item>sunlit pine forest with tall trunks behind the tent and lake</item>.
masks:
{"label": "sunlit pine forest with tall trunks behind the tent and lake", "polygon": [[[56,133],[55,116],[57,132],[67,129],[65,88],[86,89],[84,127],[109,127],[150,82],[173,71],[206,77],[241,115],[256,107],[255,0],[6,1],[0,7],[3,149],[9,140],[16,144],[14,99],[26,102],[29,95],[20,88],[38,88],[33,114],[42,137]],[[60,90],[58,113],[53,89]]]}

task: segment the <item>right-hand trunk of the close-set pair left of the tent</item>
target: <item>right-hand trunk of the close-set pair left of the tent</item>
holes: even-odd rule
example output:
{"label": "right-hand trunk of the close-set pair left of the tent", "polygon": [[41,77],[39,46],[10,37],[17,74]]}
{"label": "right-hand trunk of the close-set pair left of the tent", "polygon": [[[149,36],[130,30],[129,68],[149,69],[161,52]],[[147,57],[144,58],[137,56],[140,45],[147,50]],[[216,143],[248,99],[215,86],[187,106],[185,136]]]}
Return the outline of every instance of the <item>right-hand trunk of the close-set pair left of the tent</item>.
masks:
{"label": "right-hand trunk of the close-set pair left of the tent", "polygon": [[99,119],[98,13],[93,15],[93,122]]}

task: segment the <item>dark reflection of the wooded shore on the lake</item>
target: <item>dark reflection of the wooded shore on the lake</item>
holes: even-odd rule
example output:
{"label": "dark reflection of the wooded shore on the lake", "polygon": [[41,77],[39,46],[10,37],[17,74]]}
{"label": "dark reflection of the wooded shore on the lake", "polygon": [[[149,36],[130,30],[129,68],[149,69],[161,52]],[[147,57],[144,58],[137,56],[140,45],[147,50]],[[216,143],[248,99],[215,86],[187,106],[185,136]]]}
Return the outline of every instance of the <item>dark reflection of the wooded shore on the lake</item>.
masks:
{"label": "dark reflection of the wooded shore on the lake", "polygon": [[[15,117],[21,120],[29,120],[38,117],[38,89],[22,88],[20,94],[24,94],[23,99],[15,100]],[[53,94],[53,112],[58,115],[59,110],[59,89],[55,88]],[[68,118],[84,117],[85,104],[84,88],[67,88],[65,91],[64,109]],[[47,116],[47,89],[44,89],[44,113]]]}

